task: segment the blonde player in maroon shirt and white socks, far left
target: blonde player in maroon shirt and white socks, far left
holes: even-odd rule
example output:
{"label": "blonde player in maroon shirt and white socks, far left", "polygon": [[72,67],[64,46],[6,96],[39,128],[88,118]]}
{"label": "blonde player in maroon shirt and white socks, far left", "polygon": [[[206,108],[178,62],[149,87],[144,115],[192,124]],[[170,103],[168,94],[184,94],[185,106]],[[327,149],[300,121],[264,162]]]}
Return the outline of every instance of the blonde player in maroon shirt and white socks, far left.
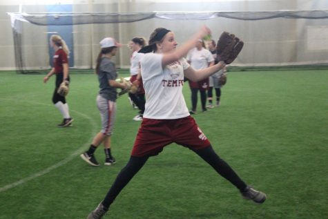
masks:
{"label": "blonde player in maroon shirt and white socks, far left", "polygon": [[58,124],[59,127],[68,127],[72,125],[73,119],[70,117],[70,112],[68,108],[68,104],[66,102],[66,98],[59,95],[57,90],[62,82],[69,83],[70,77],[68,73],[68,54],[70,50],[66,45],[64,39],[61,39],[59,35],[52,35],[50,37],[50,46],[55,50],[55,55],[53,57],[54,67],[50,70],[50,72],[44,77],[44,83],[48,82],[48,79],[52,75],[56,75],[55,82],[55,91],[52,95],[52,102],[63,115],[64,120],[61,124]]}

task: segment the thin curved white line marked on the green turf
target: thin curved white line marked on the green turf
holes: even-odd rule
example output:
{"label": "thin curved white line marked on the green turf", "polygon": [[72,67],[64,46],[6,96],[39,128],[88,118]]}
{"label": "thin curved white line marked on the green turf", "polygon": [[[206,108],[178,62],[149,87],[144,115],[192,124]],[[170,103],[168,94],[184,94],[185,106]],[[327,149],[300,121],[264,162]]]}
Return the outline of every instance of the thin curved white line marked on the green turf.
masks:
{"label": "thin curved white line marked on the green turf", "polygon": [[[6,99],[6,98],[0,98],[3,100],[8,100],[10,102],[13,102],[12,99]],[[42,103],[38,103],[38,102],[30,102],[30,101],[20,101],[20,100],[15,100],[17,102],[28,102],[30,104],[39,104],[39,105],[44,105],[44,106],[52,106],[50,104],[42,104]],[[0,193],[3,191],[7,191],[8,189],[12,189],[14,187],[19,186],[20,184],[23,184],[25,182],[28,182],[30,180],[33,180],[35,178],[38,178],[41,175],[45,175],[46,173],[50,173],[50,171],[57,169],[59,166],[63,166],[64,164],[67,164],[68,162],[70,162],[71,160],[73,160],[74,158],[77,157],[77,155],[79,155],[80,153],[82,153],[85,149],[86,146],[88,146],[88,144],[90,144],[90,142],[93,140],[93,135],[95,135],[96,131],[97,131],[97,124],[95,122],[95,120],[93,120],[91,117],[88,117],[88,115],[85,115],[84,113],[80,113],[78,111],[72,110],[70,109],[70,111],[77,113],[79,115],[81,115],[81,117],[85,117],[86,119],[88,119],[90,121],[90,124],[92,126],[92,136],[90,137],[90,139],[88,140],[88,142],[86,142],[85,144],[83,144],[81,147],[79,147],[79,149],[77,149],[77,151],[74,151],[72,154],[70,154],[67,158],[65,158],[64,160],[61,160],[60,162],[57,162],[57,164],[54,164],[52,166],[49,166],[48,168],[39,171],[37,173],[34,173],[26,178],[23,178],[21,180],[18,180],[16,182],[12,182],[10,184],[6,184],[6,186],[4,187],[0,187]]]}

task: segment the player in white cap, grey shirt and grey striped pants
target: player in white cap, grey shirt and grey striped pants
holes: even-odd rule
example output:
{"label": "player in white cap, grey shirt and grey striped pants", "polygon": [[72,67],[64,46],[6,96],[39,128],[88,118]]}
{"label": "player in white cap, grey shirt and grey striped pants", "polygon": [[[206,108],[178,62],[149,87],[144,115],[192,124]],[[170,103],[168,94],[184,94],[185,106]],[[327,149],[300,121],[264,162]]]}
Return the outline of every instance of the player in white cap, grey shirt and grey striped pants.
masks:
{"label": "player in white cap, grey shirt and grey striped pants", "polygon": [[96,73],[99,80],[99,95],[97,95],[97,106],[102,117],[102,130],[93,138],[88,151],[82,153],[81,158],[91,166],[99,166],[95,159],[95,150],[104,142],[106,160],[105,165],[111,165],[116,162],[110,152],[110,136],[113,132],[113,126],[116,115],[116,88],[126,89],[126,85],[116,82],[116,68],[111,60],[116,55],[117,47],[121,47],[115,39],[107,37],[100,41],[100,53],[97,58]]}

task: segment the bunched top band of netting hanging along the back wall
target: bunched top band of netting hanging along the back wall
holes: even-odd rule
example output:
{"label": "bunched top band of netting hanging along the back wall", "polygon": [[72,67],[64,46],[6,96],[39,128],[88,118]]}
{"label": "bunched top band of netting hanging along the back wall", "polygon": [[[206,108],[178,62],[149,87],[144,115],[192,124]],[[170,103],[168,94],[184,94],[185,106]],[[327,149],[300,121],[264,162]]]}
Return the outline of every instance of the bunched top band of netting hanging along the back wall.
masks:
{"label": "bunched top band of netting hanging along the back wall", "polygon": [[[328,10],[309,11],[265,11],[265,12],[149,12],[149,13],[10,13],[12,19],[36,25],[62,26],[86,23],[130,23],[145,19],[205,20],[225,17],[240,20],[327,19]],[[73,19],[66,19],[72,17]]]}

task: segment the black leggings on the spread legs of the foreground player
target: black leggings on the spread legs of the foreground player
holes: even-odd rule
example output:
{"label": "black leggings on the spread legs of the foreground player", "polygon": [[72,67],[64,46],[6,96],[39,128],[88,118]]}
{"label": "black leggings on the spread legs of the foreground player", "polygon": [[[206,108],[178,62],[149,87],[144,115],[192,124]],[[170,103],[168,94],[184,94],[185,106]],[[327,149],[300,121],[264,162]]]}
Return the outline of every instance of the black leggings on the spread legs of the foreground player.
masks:
{"label": "black leggings on the spread legs of the foreground player", "polygon": [[[247,187],[247,184],[245,184],[239,178],[237,173],[231,169],[229,164],[224,162],[224,160],[222,160],[215,153],[215,151],[213,151],[212,146],[206,147],[205,149],[196,150],[194,152],[197,153],[197,155],[199,155],[208,164],[210,164],[216,172],[222,175],[222,177],[226,178],[226,180],[229,180],[229,182],[231,182],[240,191],[244,191],[244,189]],[[119,192],[122,191],[122,189],[126,186],[126,184],[128,184],[128,182],[130,182],[133,176],[140,169],[142,169],[142,166],[144,166],[148,158],[148,156],[141,158],[131,156],[128,164],[126,164],[122,171],[119,172],[115,182],[113,183],[112,187],[110,187],[110,190],[104,198],[102,204],[104,204],[105,207],[109,208],[110,204],[114,202]]]}

